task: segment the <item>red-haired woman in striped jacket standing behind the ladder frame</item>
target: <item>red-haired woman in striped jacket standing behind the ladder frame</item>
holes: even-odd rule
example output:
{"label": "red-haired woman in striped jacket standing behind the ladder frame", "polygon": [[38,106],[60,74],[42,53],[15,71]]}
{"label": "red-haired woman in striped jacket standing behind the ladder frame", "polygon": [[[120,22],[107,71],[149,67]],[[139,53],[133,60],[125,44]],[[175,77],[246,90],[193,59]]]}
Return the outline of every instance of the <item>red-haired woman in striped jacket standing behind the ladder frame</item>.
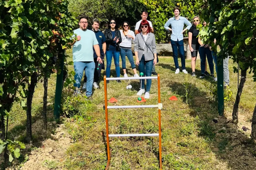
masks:
{"label": "red-haired woman in striped jacket standing behind the ladder frame", "polygon": [[[134,40],[134,53],[136,57],[136,64],[139,66],[140,73],[143,76],[150,77],[153,65],[157,63],[156,56],[156,38],[153,33],[150,33],[150,26],[147,20],[140,23],[138,33]],[[149,99],[149,91],[151,87],[151,79],[147,79],[147,86],[145,90],[145,80],[141,79],[141,89],[137,93],[141,96],[145,93],[145,99]]]}

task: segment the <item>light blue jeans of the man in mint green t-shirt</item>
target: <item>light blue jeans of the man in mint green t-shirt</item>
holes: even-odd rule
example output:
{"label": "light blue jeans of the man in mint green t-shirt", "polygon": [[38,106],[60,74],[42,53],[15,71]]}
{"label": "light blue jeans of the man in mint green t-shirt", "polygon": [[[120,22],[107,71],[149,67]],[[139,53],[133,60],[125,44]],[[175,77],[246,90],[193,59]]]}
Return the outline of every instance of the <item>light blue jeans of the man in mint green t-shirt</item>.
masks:
{"label": "light blue jeans of the man in mint green t-shirt", "polygon": [[95,63],[93,61],[88,62],[74,62],[74,69],[75,69],[75,81],[74,87],[80,88],[80,82],[83,77],[83,73],[85,70],[85,75],[87,77],[87,84],[86,84],[86,96],[89,97],[92,95],[92,84],[93,84],[93,76],[94,76],[94,69]]}

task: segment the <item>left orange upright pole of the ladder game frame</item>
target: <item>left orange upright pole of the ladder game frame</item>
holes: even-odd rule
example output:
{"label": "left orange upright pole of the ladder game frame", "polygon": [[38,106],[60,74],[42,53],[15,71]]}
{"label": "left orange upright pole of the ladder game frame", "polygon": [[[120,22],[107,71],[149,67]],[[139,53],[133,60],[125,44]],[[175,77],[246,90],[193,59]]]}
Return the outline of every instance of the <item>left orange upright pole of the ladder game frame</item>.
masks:
{"label": "left orange upright pole of the ladder game frame", "polygon": [[106,136],[107,136],[107,151],[108,151],[108,162],[106,166],[106,170],[109,167],[110,163],[110,149],[109,149],[109,137],[108,137],[108,97],[107,97],[107,81],[106,76],[104,76],[104,92],[105,92],[105,115],[106,115]]}

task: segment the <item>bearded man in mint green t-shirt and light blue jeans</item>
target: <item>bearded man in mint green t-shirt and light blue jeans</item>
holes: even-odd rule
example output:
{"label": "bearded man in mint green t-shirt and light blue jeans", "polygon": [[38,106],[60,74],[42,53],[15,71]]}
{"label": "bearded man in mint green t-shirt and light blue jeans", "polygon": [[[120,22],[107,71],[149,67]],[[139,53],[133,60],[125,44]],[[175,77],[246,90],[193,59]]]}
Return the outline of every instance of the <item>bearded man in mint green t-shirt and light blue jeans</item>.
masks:
{"label": "bearded man in mint green t-shirt and light blue jeans", "polygon": [[[80,88],[80,82],[85,70],[87,77],[86,96],[92,100],[92,85],[94,78],[95,63],[93,58],[93,47],[97,54],[97,61],[102,64],[100,58],[100,47],[96,39],[95,33],[91,30],[87,30],[88,20],[86,17],[80,17],[79,28],[74,30],[74,34],[77,35],[77,40],[71,44],[73,45],[73,62],[75,69],[75,81],[74,87]],[[78,93],[76,89],[75,94]]]}

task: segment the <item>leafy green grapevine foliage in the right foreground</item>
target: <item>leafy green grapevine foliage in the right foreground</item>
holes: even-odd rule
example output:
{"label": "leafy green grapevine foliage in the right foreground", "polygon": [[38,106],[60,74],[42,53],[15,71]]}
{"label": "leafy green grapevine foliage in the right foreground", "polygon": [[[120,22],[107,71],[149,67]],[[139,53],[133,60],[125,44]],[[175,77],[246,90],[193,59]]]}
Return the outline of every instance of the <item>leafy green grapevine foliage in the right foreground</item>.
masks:
{"label": "leafy green grapevine foliage in the right foreground", "polygon": [[200,31],[202,39],[223,58],[233,56],[241,69],[252,69],[256,81],[256,0],[199,0],[199,4],[201,16],[209,22]]}

